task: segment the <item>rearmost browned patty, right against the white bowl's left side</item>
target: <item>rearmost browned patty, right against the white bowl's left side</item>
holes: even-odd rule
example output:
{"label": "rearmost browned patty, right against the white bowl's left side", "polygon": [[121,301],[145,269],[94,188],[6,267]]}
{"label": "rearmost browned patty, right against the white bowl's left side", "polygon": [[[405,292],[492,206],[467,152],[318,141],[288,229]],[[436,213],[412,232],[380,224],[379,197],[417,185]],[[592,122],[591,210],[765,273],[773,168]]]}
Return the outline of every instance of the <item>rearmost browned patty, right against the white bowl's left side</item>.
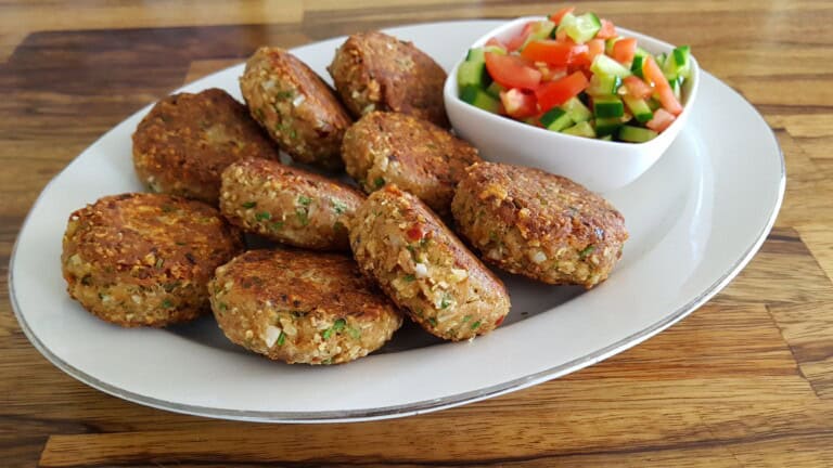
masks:
{"label": "rearmost browned patty, right against the white bowl's left side", "polygon": [[379,31],[355,34],[335,52],[328,72],[356,118],[392,110],[450,127],[443,102],[446,72],[412,42]]}

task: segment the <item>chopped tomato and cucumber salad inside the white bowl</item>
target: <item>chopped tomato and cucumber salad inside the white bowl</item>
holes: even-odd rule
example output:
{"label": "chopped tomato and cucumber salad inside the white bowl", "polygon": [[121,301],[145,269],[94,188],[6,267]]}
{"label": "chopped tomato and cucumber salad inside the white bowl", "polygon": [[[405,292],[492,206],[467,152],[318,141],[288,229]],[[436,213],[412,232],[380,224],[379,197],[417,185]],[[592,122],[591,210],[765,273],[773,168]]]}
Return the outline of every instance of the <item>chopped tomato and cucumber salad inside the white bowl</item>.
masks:
{"label": "chopped tomato and cucumber salad inside the white bowl", "polygon": [[690,48],[652,55],[614,24],[568,6],[460,64],[460,99],[544,129],[608,141],[656,138],[682,112]]}

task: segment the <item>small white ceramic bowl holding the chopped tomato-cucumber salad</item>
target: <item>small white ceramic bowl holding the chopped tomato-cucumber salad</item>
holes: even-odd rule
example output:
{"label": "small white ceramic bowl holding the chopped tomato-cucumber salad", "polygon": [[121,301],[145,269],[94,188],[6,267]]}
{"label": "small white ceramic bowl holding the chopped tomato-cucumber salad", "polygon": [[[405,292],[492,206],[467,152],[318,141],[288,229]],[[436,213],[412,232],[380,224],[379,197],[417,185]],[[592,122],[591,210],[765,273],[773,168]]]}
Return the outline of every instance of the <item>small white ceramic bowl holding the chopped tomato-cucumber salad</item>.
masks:
{"label": "small white ceramic bowl holding the chopped tomato-cucumber salad", "polygon": [[[539,20],[544,17],[513,20],[492,29],[472,47],[480,47],[492,37],[505,40],[518,34],[527,22]],[[620,36],[637,38],[639,46],[652,54],[674,50],[669,43],[625,28],[617,27],[617,31]],[[463,55],[465,52],[462,51]],[[659,159],[685,125],[700,83],[700,66],[692,56],[691,79],[683,84],[683,110],[677,120],[645,143],[607,142],[533,127],[461,101],[457,87],[460,62],[448,74],[443,91],[448,117],[458,135],[475,145],[486,160],[537,167],[573,179],[594,192],[611,192],[625,186]]]}

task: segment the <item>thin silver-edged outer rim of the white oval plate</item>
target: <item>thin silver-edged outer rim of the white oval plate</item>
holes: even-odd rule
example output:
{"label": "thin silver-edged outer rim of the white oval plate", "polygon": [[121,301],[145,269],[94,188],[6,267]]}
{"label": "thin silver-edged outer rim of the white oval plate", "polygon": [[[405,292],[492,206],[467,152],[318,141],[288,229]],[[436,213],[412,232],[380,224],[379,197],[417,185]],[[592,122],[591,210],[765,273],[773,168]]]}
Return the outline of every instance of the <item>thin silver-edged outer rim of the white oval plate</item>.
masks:
{"label": "thin silver-edged outer rim of the white oval plate", "polygon": [[[479,20],[479,22],[487,22],[487,21]],[[492,21],[488,21],[488,22],[492,22]],[[410,27],[410,26],[425,26],[425,25],[431,25],[435,23],[472,23],[472,22],[478,22],[478,20],[413,23],[413,24],[407,24],[407,25],[398,25],[392,28],[386,28],[386,29],[396,29],[399,27]],[[322,40],[328,40],[328,39],[322,39]],[[315,42],[320,42],[320,41],[315,41]],[[302,44],[298,47],[305,47],[311,43],[313,42],[310,42],[308,44]],[[296,49],[296,48],[293,48],[293,49]],[[236,67],[236,66],[240,66],[240,63],[226,67],[222,70]],[[217,70],[215,72],[215,74],[221,73],[222,70]],[[269,412],[269,411],[232,410],[232,408],[218,408],[218,407],[212,407],[212,406],[190,405],[190,404],[183,404],[183,403],[169,402],[166,400],[161,400],[153,396],[134,393],[134,392],[131,392],[130,390],[118,388],[110,384],[106,384],[104,381],[101,381],[98,378],[81,372],[80,369],[76,368],[68,362],[62,360],[61,358],[52,353],[52,351],[50,351],[40,341],[40,339],[31,332],[28,323],[26,322],[26,318],[21,313],[21,308],[20,308],[20,304],[17,303],[17,297],[14,290],[14,271],[15,271],[14,265],[15,265],[15,260],[17,256],[17,247],[20,244],[20,233],[22,233],[26,229],[26,226],[29,224],[31,213],[33,211],[35,211],[37,206],[43,200],[43,195],[47,192],[47,190],[59,178],[61,178],[61,176],[74,162],[77,161],[78,157],[80,157],[80,155],[84,154],[84,152],[79,153],[75,158],[73,158],[66,166],[63,167],[63,169],[61,169],[61,171],[59,171],[54,177],[52,177],[52,179],[50,179],[50,181],[43,186],[43,188],[41,188],[37,199],[29,208],[23,223],[21,224],[21,227],[17,233],[17,237],[15,238],[15,242],[14,242],[14,246],[12,247],[12,255],[9,261],[8,286],[9,286],[9,300],[12,306],[12,311],[18,324],[21,325],[21,329],[23,330],[24,335],[29,340],[29,342],[35,347],[35,349],[37,349],[38,352],[40,352],[43,355],[43,358],[47,359],[47,361],[52,363],[55,367],[63,370],[65,374],[69,375],[74,379],[85,385],[88,385],[99,391],[107,393],[110,395],[113,395],[123,400],[127,400],[132,403],[141,404],[144,406],[150,406],[150,407],[164,410],[172,413],[188,414],[193,416],[203,416],[203,417],[210,417],[210,418],[220,418],[220,419],[227,419],[227,420],[241,420],[241,421],[251,421],[251,422],[311,424],[311,422],[355,422],[355,421],[390,419],[390,418],[397,418],[397,417],[419,415],[424,413],[432,413],[439,410],[460,406],[467,403],[474,403],[474,402],[478,402],[489,398],[505,394],[512,391],[522,390],[547,380],[555,379],[563,375],[580,370],[585,367],[588,367],[600,361],[603,361],[612,355],[618,354],[619,352],[623,352],[631,347],[635,347],[643,342],[644,340],[659,334],[661,332],[665,330],[666,328],[670,327],[671,325],[676,324],[677,322],[681,321],[682,318],[684,318],[685,316],[694,312],[702,304],[704,304],[706,301],[708,301],[715,295],[717,295],[729,282],[731,282],[746,266],[746,264],[752,260],[752,258],[760,249],[769,232],[772,230],[772,226],[774,225],[776,219],[778,218],[779,211],[781,209],[781,205],[783,203],[784,192],[786,190],[786,162],[784,159],[783,150],[778,141],[778,138],[776,136],[772,128],[766,122],[764,117],[760,115],[760,113],[757,112],[757,108],[743,94],[734,90],[732,87],[726,84],[723,81],[721,81],[720,79],[718,79],[717,77],[715,77],[714,75],[709,74],[706,70],[701,70],[701,74],[707,75],[708,78],[714,79],[719,84],[725,86],[730,92],[734,93],[743,102],[749,105],[749,107],[752,107],[755,110],[754,113],[755,116],[758,119],[760,119],[765,125],[765,127],[769,130],[769,135],[772,138],[772,141],[774,142],[776,148],[778,150],[779,159],[780,159],[780,174],[779,174],[780,178],[779,178],[779,186],[778,186],[776,203],[771,207],[771,211],[768,216],[766,224],[762,226],[762,229],[759,230],[754,242],[746,248],[746,250],[734,262],[734,264],[729,270],[723,272],[723,274],[720,277],[718,277],[712,285],[705,288],[699,296],[690,300],[684,306],[678,308],[672,313],[666,315],[663,320],[652,324],[651,326],[640,332],[633,333],[623,339],[619,339],[612,344],[608,344],[604,348],[595,350],[594,352],[586,354],[584,356],[540,370],[538,373],[515,378],[512,380],[508,380],[495,386],[472,390],[469,392],[461,392],[452,395],[447,395],[444,398],[423,400],[414,403],[382,406],[382,407],[370,408],[370,410],[360,408],[360,410],[320,411],[320,412],[316,412],[316,411]],[[202,80],[202,78],[204,77],[201,77],[200,79],[194,80],[190,83],[185,83],[183,84],[183,87],[197,83],[200,80]],[[153,104],[149,104],[148,106],[150,105],[153,105]],[[137,112],[141,112],[148,106],[144,106],[138,109]],[[116,127],[118,127],[118,123],[113,128],[111,128],[105,133],[103,133],[101,136],[99,136],[94,142],[92,142],[88,146],[88,148],[94,145],[100,140],[104,139]]]}

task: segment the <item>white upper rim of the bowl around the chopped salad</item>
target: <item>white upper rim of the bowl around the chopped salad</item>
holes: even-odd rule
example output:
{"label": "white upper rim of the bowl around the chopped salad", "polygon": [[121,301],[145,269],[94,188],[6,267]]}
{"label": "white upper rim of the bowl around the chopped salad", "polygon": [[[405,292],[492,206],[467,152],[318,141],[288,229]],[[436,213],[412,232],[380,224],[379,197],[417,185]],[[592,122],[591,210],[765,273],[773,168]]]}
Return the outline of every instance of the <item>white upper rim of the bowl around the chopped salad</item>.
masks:
{"label": "white upper rim of the bowl around the chopped salad", "polygon": [[[518,17],[516,17],[514,20],[510,20],[510,21],[508,21],[508,22],[505,22],[505,23],[495,27],[494,29],[490,29],[489,31],[487,31],[483,36],[480,36],[477,40],[472,42],[471,46],[469,46],[469,48],[465,50],[465,52],[467,52],[469,49],[473,49],[473,48],[480,47],[480,46],[485,44],[486,41],[488,41],[492,37],[499,36],[501,34],[505,32],[507,30],[512,29],[513,27],[516,27],[517,24],[520,24],[520,23],[528,23],[528,22],[531,22],[531,21],[542,21],[542,20],[547,20],[547,16],[543,16],[543,15],[530,15],[530,16],[518,16]],[[651,52],[651,53],[656,53],[656,52],[652,52],[652,49],[653,50],[655,50],[656,48],[667,49],[667,50],[663,50],[663,52],[667,52],[667,51],[674,50],[675,47],[676,47],[676,46],[674,46],[674,44],[671,44],[669,42],[665,42],[663,40],[656,39],[654,37],[651,37],[651,36],[648,36],[648,35],[644,35],[644,34],[641,34],[641,32],[638,32],[638,31],[635,31],[632,29],[628,29],[628,28],[625,28],[625,27],[616,26],[616,30],[617,30],[617,32],[619,32],[620,36],[629,36],[629,37],[637,38],[637,41],[640,44],[640,47],[643,47],[643,44],[645,42],[652,42],[652,46],[646,48],[646,50],[649,50],[649,52]],[[448,102],[449,100],[456,101],[458,104],[462,104],[464,106],[463,108],[465,108],[466,112],[474,112],[475,114],[478,114],[480,116],[489,116],[489,117],[486,117],[486,118],[489,118],[489,119],[499,119],[499,120],[492,120],[492,121],[501,121],[501,122],[504,122],[504,123],[509,123],[510,128],[524,129],[523,131],[531,130],[534,134],[538,134],[538,135],[544,135],[546,134],[546,135],[550,135],[548,138],[552,138],[552,139],[555,139],[555,140],[559,140],[561,138],[581,139],[581,141],[587,142],[587,144],[590,144],[590,145],[599,144],[600,146],[607,147],[607,148],[623,147],[623,145],[627,145],[628,147],[637,147],[637,148],[646,148],[648,150],[651,146],[664,145],[666,140],[669,140],[669,139],[674,140],[675,136],[677,135],[677,133],[679,133],[680,128],[685,123],[685,120],[688,120],[688,115],[691,114],[691,107],[693,107],[694,101],[696,101],[697,89],[700,88],[701,69],[700,69],[700,63],[694,57],[694,54],[693,53],[690,54],[689,57],[690,57],[691,64],[692,64],[691,65],[692,74],[691,74],[691,78],[689,78],[691,84],[690,84],[690,88],[689,88],[689,93],[685,96],[685,102],[681,103],[682,104],[682,113],[680,113],[680,116],[682,116],[684,114],[685,117],[684,118],[680,118],[680,116],[678,116],[677,119],[674,122],[671,122],[671,125],[667,129],[665,129],[665,131],[659,133],[653,140],[649,140],[649,141],[642,142],[642,143],[605,141],[605,140],[600,140],[600,139],[597,139],[597,138],[589,139],[589,138],[585,138],[585,136],[577,136],[577,135],[572,135],[572,134],[566,134],[566,133],[561,133],[561,132],[555,132],[555,131],[550,131],[550,130],[547,130],[547,129],[542,129],[542,128],[539,128],[539,127],[535,127],[535,126],[530,126],[528,123],[524,123],[524,122],[517,121],[517,120],[515,120],[513,118],[509,118],[509,117],[501,116],[501,115],[498,115],[498,114],[492,114],[492,113],[490,113],[488,110],[484,110],[484,109],[482,109],[482,108],[479,108],[477,106],[474,106],[472,104],[466,103],[465,101],[460,99],[459,88],[457,86],[457,72],[460,68],[460,64],[462,64],[465,61],[465,54],[463,54],[462,58],[458,60],[457,63],[454,63],[454,66],[451,67],[451,70],[449,70],[448,76],[446,77],[446,82],[445,82],[445,84],[443,87],[443,94],[445,96],[446,102]],[[554,136],[554,135],[558,135],[558,136]],[[575,140],[571,140],[571,141],[575,141]],[[590,142],[592,142],[592,143],[590,143]],[[668,142],[668,143],[670,144],[670,142]]]}

